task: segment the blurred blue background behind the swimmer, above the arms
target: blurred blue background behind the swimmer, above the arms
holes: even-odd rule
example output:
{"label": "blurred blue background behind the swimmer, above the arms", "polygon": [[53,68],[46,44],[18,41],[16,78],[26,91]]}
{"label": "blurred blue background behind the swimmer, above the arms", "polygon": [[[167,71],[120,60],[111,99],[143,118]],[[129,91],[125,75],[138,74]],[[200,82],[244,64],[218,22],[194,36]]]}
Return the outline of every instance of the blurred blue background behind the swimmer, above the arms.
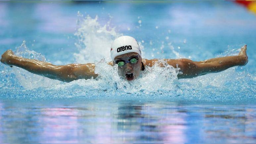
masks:
{"label": "blurred blue background behind the swimmer, above the arms", "polygon": [[[115,27],[118,34],[135,37],[144,46],[144,57],[148,59],[177,58],[170,46],[179,52],[178,57],[202,60],[243,44],[248,45],[252,58],[256,14],[255,7],[249,4],[235,1],[0,2],[0,53],[15,50],[26,40],[27,47],[46,56],[47,61],[56,64],[76,61],[73,54],[80,50],[75,46],[78,38],[74,34],[81,27],[77,24],[79,11],[84,17],[98,16],[97,24],[102,27],[107,24],[109,28]],[[90,32],[95,31],[87,34]]]}

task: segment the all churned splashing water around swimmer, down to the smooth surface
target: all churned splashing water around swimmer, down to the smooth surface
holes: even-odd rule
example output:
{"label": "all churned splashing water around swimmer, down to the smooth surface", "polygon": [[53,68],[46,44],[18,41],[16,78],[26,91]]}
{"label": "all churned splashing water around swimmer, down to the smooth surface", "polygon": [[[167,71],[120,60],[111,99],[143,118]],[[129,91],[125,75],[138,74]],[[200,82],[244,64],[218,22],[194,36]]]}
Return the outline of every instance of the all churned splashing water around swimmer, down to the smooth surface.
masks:
{"label": "all churned splashing water around swimmer, down to the smooth surface", "polygon": [[[255,76],[243,71],[242,67],[230,68],[224,72],[193,79],[177,80],[179,68],[173,68],[165,61],[159,60],[159,65],[146,66],[139,78],[129,82],[120,78],[117,66],[112,67],[107,64],[110,61],[111,42],[123,34],[116,32],[109,23],[101,26],[97,16],[93,19],[78,13],[77,26],[75,35],[78,38],[76,46],[79,53],[75,53],[74,57],[77,63],[95,62],[95,72],[100,75],[97,79],[79,79],[66,83],[31,74],[20,68],[5,67],[1,72],[1,78],[4,78],[0,87],[8,89],[8,93],[3,93],[3,95],[10,94],[14,98],[27,98],[29,95],[31,99],[35,97],[67,99],[104,96],[146,98],[156,95],[157,98],[165,97],[173,101],[255,101]],[[152,44],[150,41],[150,45]],[[143,49],[141,42],[139,45]],[[183,57],[179,51],[174,50],[172,43],[167,42],[162,45],[162,49],[169,49],[176,58]],[[219,56],[234,55],[237,52],[237,50],[228,50]],[[44,56],[29,51],[25,42],[17,49],[16,54],[45,61]],[[143,55],[146,54],[150,52],[147,51]],[[160,65],[165,65],[165,67],[160,67]],[[22,90],[12,91],[12,88],[22,88]]]}

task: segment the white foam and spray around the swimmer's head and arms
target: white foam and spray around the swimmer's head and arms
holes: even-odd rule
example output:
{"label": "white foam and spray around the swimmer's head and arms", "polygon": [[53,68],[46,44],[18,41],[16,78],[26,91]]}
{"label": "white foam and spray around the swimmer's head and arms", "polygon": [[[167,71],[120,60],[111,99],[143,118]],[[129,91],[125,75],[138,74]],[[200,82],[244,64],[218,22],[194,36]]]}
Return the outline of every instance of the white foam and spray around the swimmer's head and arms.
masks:
{"label": "white foam and spray around the swimmer's head and arms", "polygon": [[[97,16],[93,19],[90,16],[83,17],[79,13],[77,27],[78,28],[75,35],[78,37],[78,42],[76,43],[76,46],[79,49],[79,53],[74,54],[76,62],[95,62],[95,72],[99,74],[99,77],[96,80],[79,79],[70,83],[66,83],[59,82],[57,80],[51,80],[49,78],[38,76],[20,68],[14,67],[10,72],[13,72],[15,74],[19,83],[24,88],[32,89],[38,87],[48,87],[47,89],[54,90],[82,89],[82,91],[98,90],[101,92],[108,91],[114,93],[123,92],[138,94],[159,93],[160,91],[175,90],[176,93],[182,94],[183,90],[176,88],[177,83],[180,87],[183,87],[187,90],[189,90],[190,87],[193,87],[197,90],[202,90],[207,86],[236,86],[237,81],[239,82],[241,81],[241,79],[255,79],[255,77],[253,76],[246,77],[245,72],[239,74],[235,71],[236,68],[230,68],[220,73],[207,74],[193,79],[180,79],[179,81],[177,81],[179,68],[173,68],[172,66],[167,65],[165,61],[160,60],[159,64],[165,65],[165,67],[160,67],[160,65],[158,64],[154,65],[153,67],[146,66],[145,71],[141,73],[141,76],[130,82],[120,78],[120,76],[118,75],[117,66],[112,67],[107,64],[107,62],[111,61],[110,46],[112,41],[123,34],[116,32],[115,28],[110,27],[109,22],[102,26],[98,22]],[[141,49],[143,49],[144,47],[142,43],[138,43]],[[150,41],[150,45],[153,45],[152,41]],[[171,51],[175,54],[176,58],[183,58],[183,56],[179,52],[175,51],[171,43],[163,43],[162,47],[169,47]],[[159,49],[161,49],[161,47]],[[151,54],[150,51],[147,52],[147,54]],[[221,54],[220,56],[234,55],[236,53],[237,50],[231,50],[227,51],[224,54]],[[44,56],[42,56],[41,54],[38,54],[34,51],[29,51],[26,47],[25,42],[17,49],[16,54],[26,58],[45,61]],[[152,55],[154,54],[155,53],[152,53]],[[142,55],[146,54],[144,54],[142,51]],[[236,79],[236,81],[234,81],[234,79]],[[187,85],[187,83],[189,83],[189,85]],[[246,82],[244,81],[242,81],[242,83],[246,84]],[[237,89],[240,88],[242,85],[243,84],[238,84],[238,86],[236,86]],[[246,86],[248,85],[245,85],[243,87],[246,88]]]}

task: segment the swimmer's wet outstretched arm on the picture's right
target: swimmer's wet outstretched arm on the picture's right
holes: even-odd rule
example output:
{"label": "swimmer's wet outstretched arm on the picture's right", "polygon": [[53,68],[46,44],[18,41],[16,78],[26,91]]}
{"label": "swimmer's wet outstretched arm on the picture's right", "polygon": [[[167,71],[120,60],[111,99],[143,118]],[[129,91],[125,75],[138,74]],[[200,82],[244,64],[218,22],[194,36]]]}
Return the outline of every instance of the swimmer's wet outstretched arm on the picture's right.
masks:
{"label": "swimmer's wet outstretched arm on the picture's right", "polygon": [[[200,62],[191,61],[189,59],[164,59],[169,65],[176,68],[176,64],[179,65],[180,72],[178,78],[193,78],[207,73],[215,73],[224,71],[230,67],[234,66],[244,66],[248,62],[248,57],[246,55],[247,46],[244,45],[241,51],[236,56],[226,56],[220,58],[213,58],[209,60],[204,60]],[[158,60],[145,60],[145,65],[152,66]]]}

